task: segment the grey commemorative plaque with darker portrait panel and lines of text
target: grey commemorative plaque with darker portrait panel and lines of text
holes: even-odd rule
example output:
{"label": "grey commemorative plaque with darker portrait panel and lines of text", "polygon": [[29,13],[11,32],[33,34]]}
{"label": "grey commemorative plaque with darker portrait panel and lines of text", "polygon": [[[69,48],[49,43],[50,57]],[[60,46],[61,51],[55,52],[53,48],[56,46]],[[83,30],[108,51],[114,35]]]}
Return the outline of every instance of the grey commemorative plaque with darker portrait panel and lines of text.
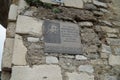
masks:
{"label": "grey commemorative plaque with darker portrait panel and lines of text", "polygon": [[43,34],[47,53],[81,54],[81,40],[77,24],[45,20]]}

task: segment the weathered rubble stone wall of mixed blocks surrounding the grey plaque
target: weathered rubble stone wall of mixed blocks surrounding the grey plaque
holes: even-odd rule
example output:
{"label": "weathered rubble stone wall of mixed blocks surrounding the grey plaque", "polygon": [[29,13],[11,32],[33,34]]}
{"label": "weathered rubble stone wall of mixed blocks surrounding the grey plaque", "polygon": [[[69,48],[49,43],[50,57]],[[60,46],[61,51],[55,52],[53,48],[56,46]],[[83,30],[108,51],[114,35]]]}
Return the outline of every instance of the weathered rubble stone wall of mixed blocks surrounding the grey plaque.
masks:
{"label": "weathered rubble stone wall of mixed blocks surrounding the grey plaque", "polygon": [[[63,12],[29,6],[24,0],[11,4],[2,80],[120,80],[118,0],[42,1],[61,5]],[[82,54],[45,52],[45,20],[77,24]]]}

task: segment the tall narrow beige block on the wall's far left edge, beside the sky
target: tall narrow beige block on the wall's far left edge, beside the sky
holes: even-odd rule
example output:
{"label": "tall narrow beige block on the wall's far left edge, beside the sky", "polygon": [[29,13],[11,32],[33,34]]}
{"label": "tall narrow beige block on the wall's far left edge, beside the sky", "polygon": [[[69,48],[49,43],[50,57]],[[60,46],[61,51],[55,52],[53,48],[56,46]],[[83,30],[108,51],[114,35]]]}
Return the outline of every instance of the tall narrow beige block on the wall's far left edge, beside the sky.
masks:
{"label": "tall narrow beige block on the wall's far left edge, beside the sky", "polygon": [[2,69],[11,69],[12,55],[13,55],[14,39],[7,38],[4,45],[3,59],[2,59]]}

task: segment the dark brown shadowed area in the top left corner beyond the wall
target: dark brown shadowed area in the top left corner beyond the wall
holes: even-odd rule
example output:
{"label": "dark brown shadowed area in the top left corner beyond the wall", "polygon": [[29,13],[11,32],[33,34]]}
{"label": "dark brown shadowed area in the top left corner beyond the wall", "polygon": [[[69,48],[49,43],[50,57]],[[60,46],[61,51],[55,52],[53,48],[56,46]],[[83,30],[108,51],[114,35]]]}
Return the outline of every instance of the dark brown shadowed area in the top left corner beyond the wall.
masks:
{"label": "dark brown shadowed area in the top left corner beyond the wall", "polygon": [[0,24],[7,28],[8,12],[11,0],[0,0]]}

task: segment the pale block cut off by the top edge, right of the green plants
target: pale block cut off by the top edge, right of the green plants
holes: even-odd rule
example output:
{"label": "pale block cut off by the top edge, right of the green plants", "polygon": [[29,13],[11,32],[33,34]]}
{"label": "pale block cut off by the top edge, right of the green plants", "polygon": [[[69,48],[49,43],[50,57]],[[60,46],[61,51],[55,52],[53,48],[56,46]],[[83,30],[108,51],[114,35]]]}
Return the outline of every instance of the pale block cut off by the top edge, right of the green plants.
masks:
{"label": "pale block cut off by the top edge, right of the green plants", "polygon": [[64,4],[68,7],[83,8],[82,0],[64,0]]}

